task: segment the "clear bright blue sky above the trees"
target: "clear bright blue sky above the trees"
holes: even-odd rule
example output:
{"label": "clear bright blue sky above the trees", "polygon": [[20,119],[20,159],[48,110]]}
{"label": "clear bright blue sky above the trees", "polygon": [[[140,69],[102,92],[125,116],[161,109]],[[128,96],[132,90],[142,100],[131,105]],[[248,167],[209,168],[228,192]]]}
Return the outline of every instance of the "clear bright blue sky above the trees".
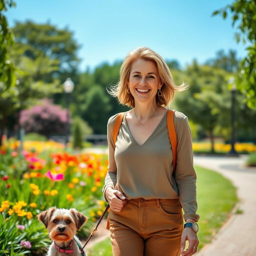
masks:
{"label": "clear bright blue sky above the trees", "polygon": [[[214,10],[231,4],[230,0],[15,0],[6,16],[10,26],[15,20],[30,19],[74,32],[81,45],[80,70],[93,70],[102,62],[123,60],[138,46],[147,46],[166,60],[176,59],[182,67],[194,58],[203,63],[223,49],[246,55],[246,46],[234,38],[231,15],[223,20]],[[237,25],[236,25],[237,26]]]}

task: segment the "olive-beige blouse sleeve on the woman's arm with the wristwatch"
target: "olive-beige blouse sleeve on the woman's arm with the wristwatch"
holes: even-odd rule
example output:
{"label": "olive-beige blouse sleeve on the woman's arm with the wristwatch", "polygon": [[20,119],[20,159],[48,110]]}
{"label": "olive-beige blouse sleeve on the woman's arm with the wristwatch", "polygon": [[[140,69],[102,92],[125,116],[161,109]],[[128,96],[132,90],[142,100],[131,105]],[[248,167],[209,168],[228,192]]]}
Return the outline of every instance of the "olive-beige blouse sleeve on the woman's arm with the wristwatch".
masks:
{"label": "olive-beige blouse sleeve on the woman's arm with the wristwatch", "polygon": [[196,172],[193,166],[192,133],[188,118],[184,117],[176,130],[178,146],[175,180],[184,210],[184,220],[192,218],[198,222],[200,216],[196,214]]}

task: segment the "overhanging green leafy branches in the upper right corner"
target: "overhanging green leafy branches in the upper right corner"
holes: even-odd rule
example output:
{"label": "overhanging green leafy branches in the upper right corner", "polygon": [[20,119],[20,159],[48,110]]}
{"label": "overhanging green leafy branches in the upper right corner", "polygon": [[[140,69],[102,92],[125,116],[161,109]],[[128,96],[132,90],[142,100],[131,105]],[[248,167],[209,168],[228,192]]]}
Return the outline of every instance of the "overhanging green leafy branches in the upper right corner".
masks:
{"label": "overhanging green leafy branches in the upper right corner", "polygon": [[221,14],[224,19],[228,16],[228,10],[233,14],[232,26],[239,21],[236,41],[240,42],[241,37],[244,44],[249,42],[246,48],[247,56],[240,62],[241,72],[237,75],[237,87],[245,94],[246,101],[250,108],[256,109],[256,1],[255,0],[234,0],[232,4],[216,10],[212,16]]}

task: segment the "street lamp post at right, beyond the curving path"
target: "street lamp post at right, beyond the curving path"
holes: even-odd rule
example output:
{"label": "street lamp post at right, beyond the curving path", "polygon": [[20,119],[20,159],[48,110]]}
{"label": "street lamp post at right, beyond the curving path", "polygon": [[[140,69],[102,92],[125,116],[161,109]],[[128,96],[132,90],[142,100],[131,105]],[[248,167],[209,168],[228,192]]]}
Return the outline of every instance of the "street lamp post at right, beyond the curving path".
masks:
{"label": "street lamp post at right, beyond the curving path", "polygon": [[229,84],[232,84],[231,87],[231,150],[228,153],[229,155],[237,156],[238,153],[235,150],[235,96],[236,96],[236,83],[234,77],[231,77],[228,80]]}

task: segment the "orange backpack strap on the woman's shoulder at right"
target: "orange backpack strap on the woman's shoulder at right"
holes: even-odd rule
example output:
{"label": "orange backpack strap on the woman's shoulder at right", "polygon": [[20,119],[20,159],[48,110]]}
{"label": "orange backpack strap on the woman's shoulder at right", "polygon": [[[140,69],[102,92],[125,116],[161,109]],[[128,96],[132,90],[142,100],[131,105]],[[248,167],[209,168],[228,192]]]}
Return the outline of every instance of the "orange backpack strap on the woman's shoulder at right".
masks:
{"label": "orange backpack strap on the woman's shoulder at right", "polygon": [[172,156],[173,156],[173,172],[175,177],[176,162],[177,162],[177,135],[174,126],[174,112],[176,110],[169,109],[167,112],[167,127],[170,143],[172,145]]}

